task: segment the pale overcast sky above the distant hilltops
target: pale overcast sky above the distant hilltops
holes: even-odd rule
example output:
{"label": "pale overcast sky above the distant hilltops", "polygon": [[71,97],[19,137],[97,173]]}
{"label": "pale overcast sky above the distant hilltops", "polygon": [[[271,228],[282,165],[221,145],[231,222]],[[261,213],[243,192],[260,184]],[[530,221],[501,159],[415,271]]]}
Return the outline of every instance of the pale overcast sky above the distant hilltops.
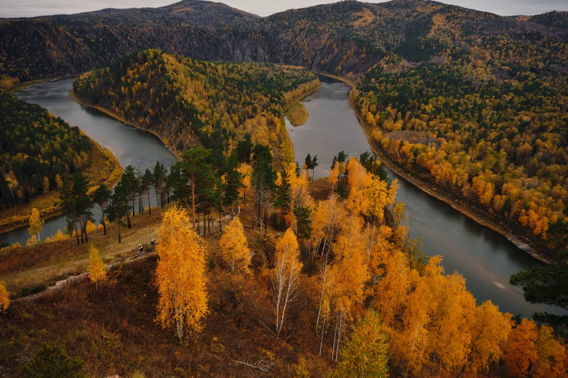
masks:
{"label": "pale overcast sky above the distant hilltops", "polygon": [[[368,0],[381,3],[384,0]],[[0,17],[32,17],[62,13],[97,11],[104,8],[141,8],[173,4],[175,0],[0,0]],[[326,0],[224,0],[224,4],[259,16],[268,16],[286,9],[326,4]],[[568,0],[441,0],[501,16],[538,14],[548,11],[568,11]]]}

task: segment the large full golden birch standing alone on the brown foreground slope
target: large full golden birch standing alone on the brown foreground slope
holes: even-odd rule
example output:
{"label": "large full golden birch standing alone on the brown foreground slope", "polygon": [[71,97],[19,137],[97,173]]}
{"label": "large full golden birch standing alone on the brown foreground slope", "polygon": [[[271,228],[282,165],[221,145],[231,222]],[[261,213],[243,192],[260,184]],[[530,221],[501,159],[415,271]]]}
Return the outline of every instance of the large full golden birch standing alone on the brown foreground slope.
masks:
{"label": "large full golden birch standing alone on the brown foreground slope", "polygon": [[164,328],[175,326],[180,340],[202,330],[207,313],[205,248],[187,211],[174,207],[162,216],[158,230],[158,316]]}

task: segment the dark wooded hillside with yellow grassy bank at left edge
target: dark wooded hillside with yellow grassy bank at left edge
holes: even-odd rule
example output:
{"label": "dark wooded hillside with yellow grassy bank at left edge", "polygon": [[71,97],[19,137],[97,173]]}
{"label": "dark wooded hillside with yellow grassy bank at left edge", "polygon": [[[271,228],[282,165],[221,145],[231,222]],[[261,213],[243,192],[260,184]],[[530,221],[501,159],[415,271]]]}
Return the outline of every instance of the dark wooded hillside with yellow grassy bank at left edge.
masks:
{"label": "dark wooded hillside with yellow grassy bank at left edge", "polygon": [[116,158],[79,128],[0,90],[0,230],[28,223],[32,207],[42,218],[58,213],[59,189],[78,170],[93,184],[121,174]]}

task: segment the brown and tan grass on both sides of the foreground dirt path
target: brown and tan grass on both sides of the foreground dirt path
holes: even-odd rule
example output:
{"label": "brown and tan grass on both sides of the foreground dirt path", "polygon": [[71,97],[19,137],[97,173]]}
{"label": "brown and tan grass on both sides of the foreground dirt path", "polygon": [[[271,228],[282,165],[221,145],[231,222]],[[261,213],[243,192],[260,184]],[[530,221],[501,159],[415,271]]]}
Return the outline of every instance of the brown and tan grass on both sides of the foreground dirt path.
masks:
{"label": "brown and tan grass on both sides of the foreground dirt path", "polygon": [[[105,262],[115,262],[99,291],[87,279],[73,280],[60,289],[13,300],[7,313],[0,314],[0,375],[21,377],[21,367],[38,345],[55,341],[70,356],[84,360],[82,372],[92,377],[133,377],[140,372],[145,377],[292,377],[300,357],[305,357],[305,367],[314,377],[332,367],[329,358],[317,356],[319,338],[312,326],[288,328],[280,338],[273,333],[273,305],[263,273],[273,239],[261,235],[258,228],[251,229],[249,206],[243,206],[241,221],[256,252],[254,273],[230,274],[222,267],[216,256],[219,230],[212,227],[212,235],[204,239],[209,313],[203,332],[181,344],[173,329],[160,328],[154,321],[157,257],[145,255],[126,263],[126,257],[136,254],[139,242],[155,238],[160,212],[153,209],[152,216],[135,216],[133,228],[123,228],[120,244],[116,228],[107,236],[89,236]],[[269,228],[268,234],[275,231]],[[77,246],[75,240],[4,251],[0,252],[0,277],[12,294],[32,292],[68,272],[84,271],[87,258],[87,245]],[[308,306],[310,297],[302,294],[297,306],[290,308],[290,324],[312,324],[309,313],[302,311]],[[270,372],[241,363],[261,359],[272,364]]]}

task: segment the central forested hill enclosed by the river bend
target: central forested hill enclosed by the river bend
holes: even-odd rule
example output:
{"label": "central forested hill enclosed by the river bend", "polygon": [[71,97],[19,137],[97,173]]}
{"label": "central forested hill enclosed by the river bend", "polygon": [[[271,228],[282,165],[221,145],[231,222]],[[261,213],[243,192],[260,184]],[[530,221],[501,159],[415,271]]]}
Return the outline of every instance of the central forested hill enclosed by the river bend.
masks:
{"label": "central forested hill enclosed by the river bend", "polygon": [[204,145],[222,153],[248,134],[290,162],[283,107],[319,86],[315,74],[297,67],[143,50],[83,74],[74,91],[87,104],[152,130],[176,152]]}

